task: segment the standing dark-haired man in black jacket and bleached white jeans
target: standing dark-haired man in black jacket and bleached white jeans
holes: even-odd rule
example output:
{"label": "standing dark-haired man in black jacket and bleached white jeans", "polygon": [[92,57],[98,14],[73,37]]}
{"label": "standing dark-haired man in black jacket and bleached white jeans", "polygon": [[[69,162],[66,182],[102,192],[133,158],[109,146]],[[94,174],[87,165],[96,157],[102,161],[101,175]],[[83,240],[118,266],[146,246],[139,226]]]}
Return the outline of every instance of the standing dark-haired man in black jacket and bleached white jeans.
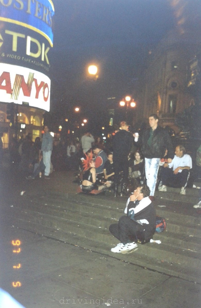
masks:
{"label": "standing dark-haired man in black jacket and bleached white jeans", "polygon": [[157,174],[160,159],[164,157],[167,149],[168,163],[174,158],[171,138],[168,131],[158,125],[158,116],[151,114],[149,116],[149,126],[142,136],[141,151],[145,158],[145,175],[147,185],[150,189],[149,198],[154,200],[154,193],[157,182]]}

